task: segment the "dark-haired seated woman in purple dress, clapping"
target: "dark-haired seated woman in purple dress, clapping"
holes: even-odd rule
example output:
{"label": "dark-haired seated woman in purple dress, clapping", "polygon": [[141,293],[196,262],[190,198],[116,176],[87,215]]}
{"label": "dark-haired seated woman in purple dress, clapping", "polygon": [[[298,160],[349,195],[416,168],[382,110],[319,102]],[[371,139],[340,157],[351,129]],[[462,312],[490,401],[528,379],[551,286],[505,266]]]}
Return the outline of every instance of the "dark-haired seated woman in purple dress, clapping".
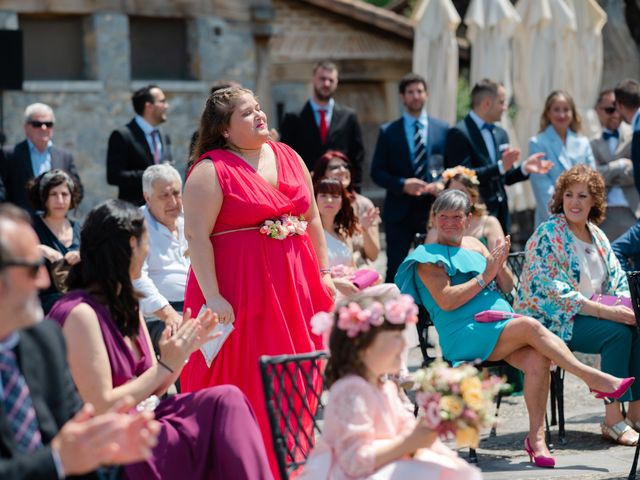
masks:
{"label": "dark-haired seated woman in purple dress, clapping", "polygon": [[89,212],[81,238],[81,260],[67,280],[72,291],[49,316],[62,325],[71,374],[85,402],[102,413],[131,396],[160,422],[151,457],[126,466],[126,477],[273,478],[255,414],[238,388],[222,385],[158,401],[208,340],[217,316],[206,310],[191,318],[187,309],[175,334],[169,327],[163,332],[156,360],[131,283],[148,253],[142,212],[108,200]]}

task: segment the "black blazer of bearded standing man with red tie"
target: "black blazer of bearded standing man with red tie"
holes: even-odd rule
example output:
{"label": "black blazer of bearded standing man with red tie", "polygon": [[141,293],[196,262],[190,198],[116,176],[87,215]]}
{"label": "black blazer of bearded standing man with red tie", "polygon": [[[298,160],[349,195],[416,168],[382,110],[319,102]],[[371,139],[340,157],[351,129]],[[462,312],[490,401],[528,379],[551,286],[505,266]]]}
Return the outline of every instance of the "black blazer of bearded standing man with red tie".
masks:
{"label": "black blazer of bearded standing man with red tie", "polygon": [[335,102],[327,143],[320,141],[320,129],[313,116],[311,103],[307,101],[299,113],[287,113],[280,128],[281,141],[293,148],[313,171],[317,160],[327,150],[339,150],[353,163],[353,184],[362,183],[364,145],[362,130],[356,112]]}

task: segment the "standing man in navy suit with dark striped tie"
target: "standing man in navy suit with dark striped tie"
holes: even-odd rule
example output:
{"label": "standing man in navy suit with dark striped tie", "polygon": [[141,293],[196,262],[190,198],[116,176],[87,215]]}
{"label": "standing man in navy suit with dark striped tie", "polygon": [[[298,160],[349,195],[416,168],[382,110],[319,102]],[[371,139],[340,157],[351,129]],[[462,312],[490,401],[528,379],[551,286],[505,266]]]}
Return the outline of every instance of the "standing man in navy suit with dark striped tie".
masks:
{"label": "standing man in navy suit with dark striped tie", "polygon": [[371,178],[387,190],[383,218],[387,277],[393,283],[417,233],[425,233],[435,195],[443,188],[442,169],[449,125],[427,115],[427,82],[410,73],[399,83],[405,113],[380,128]]}

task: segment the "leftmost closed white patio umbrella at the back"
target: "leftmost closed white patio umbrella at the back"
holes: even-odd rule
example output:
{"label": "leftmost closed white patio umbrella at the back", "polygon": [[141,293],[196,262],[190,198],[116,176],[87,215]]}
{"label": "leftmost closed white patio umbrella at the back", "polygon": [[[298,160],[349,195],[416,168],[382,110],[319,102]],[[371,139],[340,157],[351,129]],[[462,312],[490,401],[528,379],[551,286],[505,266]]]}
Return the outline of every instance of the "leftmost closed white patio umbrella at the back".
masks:
{"label": "leftmost closed white patio umbrella at the back", "polygon": [[414,11],[413,71],[429,84],[429,115],[454,124],[460,15],[451,0],[424,0]]}

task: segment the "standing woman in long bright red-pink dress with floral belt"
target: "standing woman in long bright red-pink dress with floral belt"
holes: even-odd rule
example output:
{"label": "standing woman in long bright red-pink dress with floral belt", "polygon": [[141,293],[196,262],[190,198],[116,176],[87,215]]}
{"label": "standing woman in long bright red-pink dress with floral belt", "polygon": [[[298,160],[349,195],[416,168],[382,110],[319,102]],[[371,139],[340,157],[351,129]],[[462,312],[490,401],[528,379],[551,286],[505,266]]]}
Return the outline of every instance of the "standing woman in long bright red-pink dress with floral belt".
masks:
{"label": "standing woman in long bright red-pink dress with floral belt", "polygon": [[237,385],[256,412],[275,475],[258,359],[321,348],[309,321],[331,309],[334,292],[311,177],[291,148],[269,141],[264,112],[238,87],[208,98],[194,154],[184,188],[185,308],[206,304],[235,329],[210,367],[200,352],[191,356],[181,386]]}

